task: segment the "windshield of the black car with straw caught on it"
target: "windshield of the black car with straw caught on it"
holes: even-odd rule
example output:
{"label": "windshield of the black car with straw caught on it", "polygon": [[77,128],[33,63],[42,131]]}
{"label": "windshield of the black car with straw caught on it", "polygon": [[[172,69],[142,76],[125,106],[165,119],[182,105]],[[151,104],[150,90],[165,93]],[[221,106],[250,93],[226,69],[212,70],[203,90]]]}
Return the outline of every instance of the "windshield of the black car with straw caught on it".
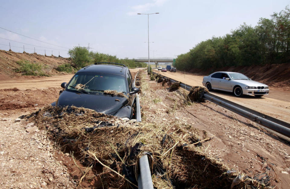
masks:
{"label": "windshield of the black car with straw caught on it", "polygon": [[126,79],[117,74],[79,72],[69,82],[69,91],[96,94],[105,90],[124,92],[127,94]]}

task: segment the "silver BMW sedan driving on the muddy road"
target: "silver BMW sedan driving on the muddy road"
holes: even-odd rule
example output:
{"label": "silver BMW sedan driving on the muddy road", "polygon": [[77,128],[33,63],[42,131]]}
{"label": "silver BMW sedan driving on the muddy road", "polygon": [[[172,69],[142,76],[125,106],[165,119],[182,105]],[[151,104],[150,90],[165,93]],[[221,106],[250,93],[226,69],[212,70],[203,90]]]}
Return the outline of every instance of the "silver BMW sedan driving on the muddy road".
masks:
{"label": "silver BMW sedan driving on the muddy road", "polygon": [[209,91],[218,89],[233,92],[237,97],[243,95],[262,97],[265,94],[269,94],[268,85],[255,82],[246,75],[237,72],[214,72],[203,77],[202,85]]}

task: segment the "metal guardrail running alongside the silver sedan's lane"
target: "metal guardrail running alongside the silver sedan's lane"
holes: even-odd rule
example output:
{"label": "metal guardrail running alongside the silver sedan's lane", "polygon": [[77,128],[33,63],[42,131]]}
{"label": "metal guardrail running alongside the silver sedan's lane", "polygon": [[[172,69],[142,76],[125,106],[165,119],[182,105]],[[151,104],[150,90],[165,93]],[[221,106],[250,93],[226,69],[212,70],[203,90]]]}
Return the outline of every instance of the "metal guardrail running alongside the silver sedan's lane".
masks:
{"label": "metal guardrail running alongside the silver sedan's lane", "polygon": [[[156,72],[153,72],[156,73]],[[159,74],[159,73],[156,73]],[[161,75],[161,74],[159,74]],[[163,75],[163,77],[165,77]],[[167,78],[167,77],[165,77]],[[171,82],[177,82],[174,79],[169,78],[169,81]],[[186,90],[190,90],[192,88],[192,86],[190,85],[185,85],[184,83],[180,84],[180,87],[186,89]],[[246,117],[260,125],[263,125],[265,127],[268,127],[284,136],[290,137],[290,124],[286,123],[282,120],[278,120],[274,117],[268,116],[266,114],[262,114],[258,111],[252,110],[250,108],[244,107],[240,104],[236,104],[234,102],[228,101],[224,98],[218,97],[214,94],[210,94],[210,93],[205,93],[204,94],[204,98],[208,101],[211,101],[215,104],[218,104],[221,107],[224,107],[236,114],[239,114],[243,117]]]}

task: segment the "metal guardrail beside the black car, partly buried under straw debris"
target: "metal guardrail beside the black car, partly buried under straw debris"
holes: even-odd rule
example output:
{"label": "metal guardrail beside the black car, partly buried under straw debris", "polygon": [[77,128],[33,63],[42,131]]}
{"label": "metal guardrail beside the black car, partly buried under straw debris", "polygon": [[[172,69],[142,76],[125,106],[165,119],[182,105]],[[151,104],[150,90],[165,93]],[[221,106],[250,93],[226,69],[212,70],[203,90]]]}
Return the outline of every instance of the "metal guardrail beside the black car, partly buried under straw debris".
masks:
{"label": "metal guardrail beside the black car, partly buried under straw debris", "polygon": [[[135,87],[137,73],[135,75],[134,82],[133,82],[134,87]],[[139,101],[138,93],[136,94],[136,120],[138,122],[141,122],[140,101]],[[153,189],[153,183],[152,183],[150,166],[149,166],[147,155],[143,155],[139,159],[139,167],[140,167],[140,175],[138,175],[138,188],[140,188],[140,189],[147,189],[147,188]]]}

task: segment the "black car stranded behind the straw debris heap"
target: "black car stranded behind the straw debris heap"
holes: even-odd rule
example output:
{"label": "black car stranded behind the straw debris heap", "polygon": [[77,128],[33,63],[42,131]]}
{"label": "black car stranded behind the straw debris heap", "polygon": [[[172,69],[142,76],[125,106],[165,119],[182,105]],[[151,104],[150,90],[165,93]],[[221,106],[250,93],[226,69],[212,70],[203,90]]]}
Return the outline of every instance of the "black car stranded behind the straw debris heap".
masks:
{"label": "black car stranded behind the straw debris heap", "polygon": [[[113,64],[113,65],[112,65]],[[98,62],[80,69],[69,83],[62,83],[64,91],[56,106],[76,106],[99,113],[132,119],[135,93],[132,75],[124,64]],[[107,94],[106,90],[118,91],[122,95]]]}

